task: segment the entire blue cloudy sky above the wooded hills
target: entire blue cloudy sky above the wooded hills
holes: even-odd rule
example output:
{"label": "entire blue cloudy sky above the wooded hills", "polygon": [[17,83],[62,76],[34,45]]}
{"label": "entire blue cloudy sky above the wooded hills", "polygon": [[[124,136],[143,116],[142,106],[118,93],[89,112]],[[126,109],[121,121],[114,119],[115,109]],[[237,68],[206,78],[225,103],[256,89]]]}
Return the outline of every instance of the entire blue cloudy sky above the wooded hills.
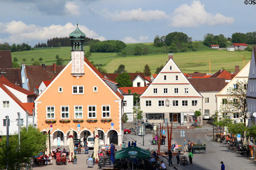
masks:
{"label": "entire blue cloudy sky above the wooded hills", "polygon": [[193,41],[256,31],[256,5],[244,0],[0,0],[0,6],[0,43],[9,44],[67,37],[77,22],[87,37],[126,43],[174,31]]}

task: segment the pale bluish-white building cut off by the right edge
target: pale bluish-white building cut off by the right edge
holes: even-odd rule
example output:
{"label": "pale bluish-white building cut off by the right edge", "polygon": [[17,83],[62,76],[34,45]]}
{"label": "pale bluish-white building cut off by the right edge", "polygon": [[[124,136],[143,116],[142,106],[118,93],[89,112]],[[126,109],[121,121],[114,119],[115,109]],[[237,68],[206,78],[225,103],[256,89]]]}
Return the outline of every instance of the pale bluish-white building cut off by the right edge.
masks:
{"label": "pale bluish-white building cut off by the right edge", "polygon": [[256,124],[256,46],[253,46],[252,57],[250,61],[250,71],[246,93],[247,111],[249,113],[248,126]]}

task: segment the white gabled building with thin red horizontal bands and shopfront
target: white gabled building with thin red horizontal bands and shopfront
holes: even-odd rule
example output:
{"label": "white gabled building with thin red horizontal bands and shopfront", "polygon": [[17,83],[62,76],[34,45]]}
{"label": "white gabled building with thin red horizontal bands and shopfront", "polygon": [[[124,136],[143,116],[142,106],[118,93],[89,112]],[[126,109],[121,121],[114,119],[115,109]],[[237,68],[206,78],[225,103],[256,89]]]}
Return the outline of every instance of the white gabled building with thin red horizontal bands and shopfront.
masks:
{"label": "white gabled building with thin red horizontal bands and shopfront", "polygon": [[195,125],[194,112],[202,111],[203,97],[175,64],[173,54],[168,55],[169,61],[140,96],[143,118],[151,123]]}

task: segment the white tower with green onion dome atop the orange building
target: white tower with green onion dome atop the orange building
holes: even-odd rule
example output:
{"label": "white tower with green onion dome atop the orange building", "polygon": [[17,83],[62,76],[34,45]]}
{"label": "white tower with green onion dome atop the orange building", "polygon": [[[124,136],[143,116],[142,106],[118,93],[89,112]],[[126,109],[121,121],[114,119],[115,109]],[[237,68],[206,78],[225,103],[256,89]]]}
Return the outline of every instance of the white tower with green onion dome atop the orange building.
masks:
{"label": "white tower with green onion dome atop the orange building", "polygon": [[85,34],[78,28],[70,33],[71,40],[71,58],[72,58],[72,76],[80,77],[84,75],[84,39]]}

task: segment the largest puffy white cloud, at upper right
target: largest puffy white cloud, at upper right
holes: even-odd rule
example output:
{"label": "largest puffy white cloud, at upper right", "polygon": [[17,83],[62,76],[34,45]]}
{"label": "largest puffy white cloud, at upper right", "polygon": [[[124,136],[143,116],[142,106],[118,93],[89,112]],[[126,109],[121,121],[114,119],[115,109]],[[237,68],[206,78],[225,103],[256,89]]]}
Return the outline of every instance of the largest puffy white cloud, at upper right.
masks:
{"label": "largest puffy white cloud, at upper right", "polygon": [[182,4],[172,14],[171,24],[173,27],[197,27],[201,25],[222,25],[234,23],[233,17],[225,17],[222,14],[207,13],[204,4],[200,1],[193,1],[191,5]]}

